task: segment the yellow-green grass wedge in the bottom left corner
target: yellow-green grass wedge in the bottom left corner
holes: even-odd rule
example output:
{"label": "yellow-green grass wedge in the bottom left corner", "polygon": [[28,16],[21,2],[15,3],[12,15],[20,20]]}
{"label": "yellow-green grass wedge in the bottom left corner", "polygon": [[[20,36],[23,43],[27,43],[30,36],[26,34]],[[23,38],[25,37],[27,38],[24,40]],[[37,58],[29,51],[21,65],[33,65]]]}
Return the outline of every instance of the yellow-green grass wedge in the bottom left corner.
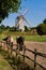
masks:
{"label": "yellow-green grass wedge in the bottom left corner", "polygon": [[13,70],[10,64],[0,54],[0,70]]}

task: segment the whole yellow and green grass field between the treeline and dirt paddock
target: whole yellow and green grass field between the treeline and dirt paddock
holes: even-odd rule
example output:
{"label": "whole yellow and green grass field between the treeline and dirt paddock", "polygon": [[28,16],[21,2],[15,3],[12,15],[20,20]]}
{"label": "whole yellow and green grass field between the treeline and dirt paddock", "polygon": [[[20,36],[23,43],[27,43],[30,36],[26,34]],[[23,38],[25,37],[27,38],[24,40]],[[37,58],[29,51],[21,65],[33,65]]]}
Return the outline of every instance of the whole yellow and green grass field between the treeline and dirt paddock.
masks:
{"label": "whole yellow and green grass field between the treeline and dirt paddock", "polygon": [[30,32],[3,32],[0,34],[0,40],[5,38],[6,36],[11,34],[14,40],[16,40],[17,36],[24,36],[26,41],[39,41],[39,42],[46,42],[46,36],[31,36]]}

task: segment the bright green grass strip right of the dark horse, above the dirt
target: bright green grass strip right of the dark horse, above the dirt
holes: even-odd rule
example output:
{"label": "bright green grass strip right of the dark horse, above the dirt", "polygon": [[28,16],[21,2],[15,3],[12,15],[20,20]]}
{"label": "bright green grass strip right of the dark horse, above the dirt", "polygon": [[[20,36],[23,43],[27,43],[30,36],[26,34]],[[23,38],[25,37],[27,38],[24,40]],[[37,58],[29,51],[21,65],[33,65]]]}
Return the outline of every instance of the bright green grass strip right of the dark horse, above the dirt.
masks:
{"label": "bright green grass strip right of the dark horse, above the dirt", "polygon": [[27,41],[46,42],[46,36],[25,36]]}

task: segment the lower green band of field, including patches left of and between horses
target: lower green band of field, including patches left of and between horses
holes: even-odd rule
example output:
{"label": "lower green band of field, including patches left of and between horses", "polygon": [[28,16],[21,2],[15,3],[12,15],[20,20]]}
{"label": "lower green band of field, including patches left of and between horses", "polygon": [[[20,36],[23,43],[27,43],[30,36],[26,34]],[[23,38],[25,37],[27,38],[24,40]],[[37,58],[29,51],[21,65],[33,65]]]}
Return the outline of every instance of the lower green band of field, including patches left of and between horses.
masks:
{"label": "lower green band of field, including patches left of and between horses", "polygon": [[[21,34],[22,36],[22,34]],[[6,36],[4,34],[0,34],[0,40],[2,40],[3,38],[5,38]],[[16,34],[12,34],[12,37],[14,38],[14,40],[16,40]],[[46,42],[46,36],[22,36],[25,37],[26,41],[37,41],[37,42]]]}

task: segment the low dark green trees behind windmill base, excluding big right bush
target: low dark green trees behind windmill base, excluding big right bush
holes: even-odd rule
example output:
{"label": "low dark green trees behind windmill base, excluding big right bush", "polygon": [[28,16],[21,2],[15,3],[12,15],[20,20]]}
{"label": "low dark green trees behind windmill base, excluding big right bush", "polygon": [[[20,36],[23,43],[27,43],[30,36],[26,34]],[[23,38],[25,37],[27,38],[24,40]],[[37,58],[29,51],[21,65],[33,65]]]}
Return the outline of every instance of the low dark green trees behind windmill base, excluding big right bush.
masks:
{"label": "low dark green trees behind windmill base, excluding big right bush", "polygon": [[[16,27],[10,27],[10,26],[4,26],[4,25],[1,25],[0,26],[0,31],[4,31],[4,30],[9,30],[9,31],[20,31],[18,30]],[[29,28],[27,26],[25,26],[25,31],[29,31]]]}

